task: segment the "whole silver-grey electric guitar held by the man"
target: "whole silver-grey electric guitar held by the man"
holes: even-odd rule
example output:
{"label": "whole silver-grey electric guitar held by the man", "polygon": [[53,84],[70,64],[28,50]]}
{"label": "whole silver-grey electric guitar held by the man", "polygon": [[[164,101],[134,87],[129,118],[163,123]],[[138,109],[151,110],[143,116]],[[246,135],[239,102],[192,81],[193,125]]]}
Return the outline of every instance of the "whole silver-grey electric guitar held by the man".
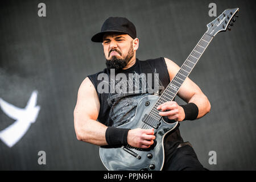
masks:
{"label": "whole silver-grey electric guitar held by the man", "polygon": [[174,99],[181,84],[191,73],[213,37],[220,31],[230,30],[228,26],[233,26],[233,22],[236,21],[234,16],[237,16],[236,13],[238,11],[238,8],[227,9],[218,18],[207,24],[208,30],[196,44],[183,65],[181,65],[179,72],[171,80],[161,96],[148,95],[141,98],[134,118],[128,123],[118,126],[119,128],[127,129],[151,129],[153,127],[156,138],[150,148],[135,148],[129,144],[127,146],[100,147],[101,161],[108,170],[162,170],[164,164],[163,139],[167,133],[175,129],[178,122],[165,122],[162,116],[158,114],[159,111],[156,107]]}

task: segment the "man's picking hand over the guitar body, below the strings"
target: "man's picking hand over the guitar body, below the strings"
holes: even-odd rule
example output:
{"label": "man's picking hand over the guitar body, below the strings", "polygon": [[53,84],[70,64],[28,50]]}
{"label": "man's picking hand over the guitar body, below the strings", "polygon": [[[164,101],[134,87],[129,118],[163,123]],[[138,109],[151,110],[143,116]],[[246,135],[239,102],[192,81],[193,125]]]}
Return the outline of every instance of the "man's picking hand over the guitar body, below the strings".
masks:
{"label": "man's picking hand over the guitar body, below the strings", "polygon": [[149,148],[154,139],[154,129],[133,129],[129,130],[127,135],[128,144],[137,148]]}

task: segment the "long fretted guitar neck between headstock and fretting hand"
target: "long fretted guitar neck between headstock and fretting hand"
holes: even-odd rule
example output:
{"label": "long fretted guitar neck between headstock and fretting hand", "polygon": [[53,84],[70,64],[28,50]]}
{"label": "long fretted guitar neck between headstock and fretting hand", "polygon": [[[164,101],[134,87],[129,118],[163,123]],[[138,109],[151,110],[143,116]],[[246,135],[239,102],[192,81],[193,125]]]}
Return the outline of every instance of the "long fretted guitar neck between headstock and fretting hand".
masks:
{"label": "long fretted guitar neck between headstock and fretting hand", "polygon": [[149,115],[155,119],[160,120],[161,116],[158,114],[159,111],[156,109],[156,107],[163,104],[164,102],[174,100],[174,97],[179,91],[180,86],[183,84],[185,78],[188,77],[189,73],[191,73],[192,69],[195,67],[197,61],[200,59],[201,55],[203,55],[205,49],[208,47],[212,39],[213,36],[205,32],[205,34],[196,44],[195,48],[193,48],[192,52],[189,54],[188,58],[184,61],[183,65],[181,65],[180,70],[176,73],[175,77],[172,78],[170,84],[168,84],[167,88],[159,97],[158,101],[151,109]]}

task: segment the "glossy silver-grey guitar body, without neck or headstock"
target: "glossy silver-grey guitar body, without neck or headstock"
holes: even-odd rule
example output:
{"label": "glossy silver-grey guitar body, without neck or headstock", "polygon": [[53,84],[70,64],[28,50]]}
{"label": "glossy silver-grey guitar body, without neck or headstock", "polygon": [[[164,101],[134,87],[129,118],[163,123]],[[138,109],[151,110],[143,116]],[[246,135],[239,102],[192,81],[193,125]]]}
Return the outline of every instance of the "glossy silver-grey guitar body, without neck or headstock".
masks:
{"label": "glossy silver-grey guitar body, without neck or headstock", "polygon": [[[144,96],[137,105],[137,110],[134,118],[119,128],[136,129],[145,128],[147,124],[143,123],[142,118],[149,113],[152,107],[158,101],[158,96],[148,95]],[[164,136],[171,130],[175,129],[178,122],[167,123],[160,120],[160,125],[154,129],[155,140],[154,144],[146,150],[142,148],[134,148],[131,146],[117,146],[110,148],[108,146],[100,147],[100,158],[104,166],[108,170],[162,170],[164,164]],[[151,129],[147,126],[145,129]]]}

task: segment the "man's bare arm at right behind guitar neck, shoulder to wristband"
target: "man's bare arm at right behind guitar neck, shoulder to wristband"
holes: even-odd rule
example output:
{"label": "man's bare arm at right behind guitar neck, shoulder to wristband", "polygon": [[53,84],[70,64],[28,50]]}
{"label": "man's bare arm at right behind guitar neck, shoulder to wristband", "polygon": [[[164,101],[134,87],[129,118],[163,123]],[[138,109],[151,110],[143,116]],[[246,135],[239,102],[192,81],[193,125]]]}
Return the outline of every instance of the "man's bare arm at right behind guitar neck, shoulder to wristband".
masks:
{"label": "man's bare arm at right behind guitar neck, shoulder to wristband", "polygon": [[[176,73],[179,71],[180,67],[175,64],[173,61],[164,58],[166,61],[167,69],[170,75],[170,79],[174,78]],[[177,95],[183,99],[185,102],[193,102],[197,105],[199,109],[199,114],[197,115],[197,119],[203,117],[205,114],[209,113],[210,111],[210,102],[208,98],[204,95],[201,91],[199,86],[195,84],[191,79],[188,77],[185,79],[183,84],[180,87],[179,92]],[[180,110],[183,110],[179,107]],[[184,114],[184,110],[183,113]],[[182,121],[182,120],[181,120]]]}

